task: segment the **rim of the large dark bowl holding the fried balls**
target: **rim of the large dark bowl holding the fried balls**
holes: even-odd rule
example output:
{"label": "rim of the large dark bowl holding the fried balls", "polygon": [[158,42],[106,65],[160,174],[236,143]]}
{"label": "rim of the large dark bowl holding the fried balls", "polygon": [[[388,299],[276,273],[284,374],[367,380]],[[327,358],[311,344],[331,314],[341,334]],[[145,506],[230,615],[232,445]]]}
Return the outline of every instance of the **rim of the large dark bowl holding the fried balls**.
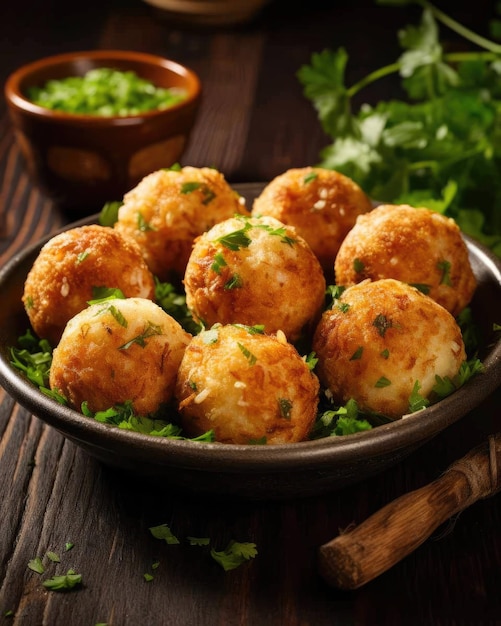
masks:
{"label": "rim of the large dark bowl holding the fried balls", "polygon": [[[249,188],[251,185],[242,185],[244,186]],[[98,216],[99,214],[94,214],[67,224],[15,254],[0,269],[0,285],[15,272],[18,264],[33,255],[46,241],[69,228],[95,223]],[[473,238],[465,234],[463,238],[470,254],[475,254],[488,267],[501,288],[501,259]],[[425,443],[465,416],[478,405],[479,400],[480,402],[485,400],[498,388],[501,381],[501,338],[483,359],[483,364],[488,369],[489,376],[480,379],[481,390],[475,393],[471,393],[471,390],[477,385],[479,377],[484,376],[483,373],[479,373],[450,396],[423,411],[409,414],[371,430],[343,437],[325,437],[264,446],[155,437],[97,422],[44,395],[12,367],[3,352],[0,352],[0,384],[20,405],[77,443],[85,444],[92,438],[92,446],[116,450],[117,453],[126,444],[129,445],[128,452],[134,456],[134,452],[137,451],[138,457],[141,450],[147,448],[152,459],[162,458],[162,463],[171,466],[199,466],[200,458],[204,456],[211,459],[207,464],[207,471],[288,472],[291,471],[291,467],[295,471],[312,467],[328,469],[334,462],[349,465],[353,463],[354,454],[358,459],[361,451],[364,455],[362,460],[369,463],[371,459],[382,454],[397,454],[402,448],[417,447]]]}

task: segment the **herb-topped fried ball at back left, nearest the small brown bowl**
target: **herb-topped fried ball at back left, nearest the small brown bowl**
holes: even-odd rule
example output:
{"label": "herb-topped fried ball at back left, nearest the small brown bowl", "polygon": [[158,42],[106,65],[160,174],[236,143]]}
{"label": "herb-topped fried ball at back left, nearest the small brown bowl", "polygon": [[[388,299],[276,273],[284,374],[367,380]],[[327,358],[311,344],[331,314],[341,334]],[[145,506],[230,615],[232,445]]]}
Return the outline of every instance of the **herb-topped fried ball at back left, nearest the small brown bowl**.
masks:
{"label": "herb-topped fried ball at back left, nearest the small brown bowl", "polygon": [[235,213],[248,213],[221,172],[183,167],[149,174],[124,196],[115,228],[139,244],[162,281],[183,277],[193,240]]}

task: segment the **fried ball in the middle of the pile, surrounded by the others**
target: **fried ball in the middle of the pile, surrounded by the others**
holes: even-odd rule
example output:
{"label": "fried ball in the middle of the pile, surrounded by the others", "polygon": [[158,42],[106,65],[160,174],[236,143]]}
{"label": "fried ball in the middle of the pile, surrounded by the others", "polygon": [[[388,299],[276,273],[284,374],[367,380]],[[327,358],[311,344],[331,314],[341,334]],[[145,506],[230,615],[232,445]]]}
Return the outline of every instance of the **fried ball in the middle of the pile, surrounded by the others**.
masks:
{"label": "fried ball in the middle of the pile, surrounded by the others", "polygon": [[294,228],[275,218],[233,217],[195,242],[184,277],[186,303],[206,328],[263,324],[296,341],[318,320],[322,268]]}

